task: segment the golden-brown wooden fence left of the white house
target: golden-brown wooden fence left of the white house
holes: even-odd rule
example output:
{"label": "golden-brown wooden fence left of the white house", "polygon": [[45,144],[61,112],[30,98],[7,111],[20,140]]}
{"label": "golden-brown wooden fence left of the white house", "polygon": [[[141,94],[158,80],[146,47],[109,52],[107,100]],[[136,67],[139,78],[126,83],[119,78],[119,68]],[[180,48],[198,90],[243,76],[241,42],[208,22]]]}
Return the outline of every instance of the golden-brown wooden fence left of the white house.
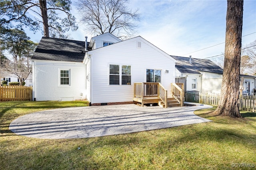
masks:
{"label": "golden-brown wooden fence left of the white house", "polygon": [[32,101],[32,87],[1,86],[0,91],[0,101]]}

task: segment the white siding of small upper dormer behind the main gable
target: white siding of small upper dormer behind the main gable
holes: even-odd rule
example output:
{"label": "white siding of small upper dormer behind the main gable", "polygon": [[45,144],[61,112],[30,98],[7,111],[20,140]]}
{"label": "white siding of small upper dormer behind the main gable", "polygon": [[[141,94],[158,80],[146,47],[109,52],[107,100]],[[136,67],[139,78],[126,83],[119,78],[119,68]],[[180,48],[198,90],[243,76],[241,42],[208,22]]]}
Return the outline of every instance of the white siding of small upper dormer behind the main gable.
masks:
{"label": "white siding of small upper dormer behind the main gable", "polygon": [[95,48],[103,47],[103,42],[117,43],[121,41],[111,34],[102,34],[100,36],[93,37],[92,39],[95,40]]}

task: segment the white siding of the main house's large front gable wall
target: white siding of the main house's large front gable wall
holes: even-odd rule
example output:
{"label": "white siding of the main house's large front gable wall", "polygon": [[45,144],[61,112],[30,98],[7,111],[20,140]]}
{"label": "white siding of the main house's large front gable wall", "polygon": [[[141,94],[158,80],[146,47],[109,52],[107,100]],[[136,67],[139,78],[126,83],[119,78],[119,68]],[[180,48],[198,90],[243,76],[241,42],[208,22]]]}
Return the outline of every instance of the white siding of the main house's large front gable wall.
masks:
{"label": "white siding of the main house's large front gable wall", "polygon": [[[137,48],[138,41],[141,48]],[[88,53],[92,54],[91,103],[132,101],[134,83],[146,82],[146,69],[162,70],[161,83],[168,93],[170,83],[175,82],[174,59],[140,37]],[[109,64],[131,65],[131,85],[109,85]]]}

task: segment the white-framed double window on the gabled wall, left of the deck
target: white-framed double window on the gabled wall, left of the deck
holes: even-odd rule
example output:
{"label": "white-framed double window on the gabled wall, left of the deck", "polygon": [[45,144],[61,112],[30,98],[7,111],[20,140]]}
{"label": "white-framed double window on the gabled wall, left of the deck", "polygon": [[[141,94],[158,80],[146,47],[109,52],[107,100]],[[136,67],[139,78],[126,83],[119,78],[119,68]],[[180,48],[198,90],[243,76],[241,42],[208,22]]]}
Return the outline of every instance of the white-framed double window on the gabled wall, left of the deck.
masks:
{"label": "white-framed double window on the gabled wall, left of the deck", "polygon": [[120,84],[131,85],[131,66],[130,65],[120,66],[120,65],[110,64],[109,65],[109,84],[110,85],[120,85]]}

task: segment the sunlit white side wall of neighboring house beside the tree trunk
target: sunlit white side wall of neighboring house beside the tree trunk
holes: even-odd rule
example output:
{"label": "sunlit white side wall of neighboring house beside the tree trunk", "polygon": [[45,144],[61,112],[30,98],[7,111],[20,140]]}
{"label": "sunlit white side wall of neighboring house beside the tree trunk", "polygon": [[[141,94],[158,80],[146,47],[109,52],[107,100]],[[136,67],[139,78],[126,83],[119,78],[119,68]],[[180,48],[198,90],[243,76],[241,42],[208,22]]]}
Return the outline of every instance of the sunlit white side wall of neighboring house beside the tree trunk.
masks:
{"label": "sunlit white side wall of neighboring house beside the tree trunk", "polygon": [[202,93],[220,93],[222,74],[200,72],[202,73]]}

